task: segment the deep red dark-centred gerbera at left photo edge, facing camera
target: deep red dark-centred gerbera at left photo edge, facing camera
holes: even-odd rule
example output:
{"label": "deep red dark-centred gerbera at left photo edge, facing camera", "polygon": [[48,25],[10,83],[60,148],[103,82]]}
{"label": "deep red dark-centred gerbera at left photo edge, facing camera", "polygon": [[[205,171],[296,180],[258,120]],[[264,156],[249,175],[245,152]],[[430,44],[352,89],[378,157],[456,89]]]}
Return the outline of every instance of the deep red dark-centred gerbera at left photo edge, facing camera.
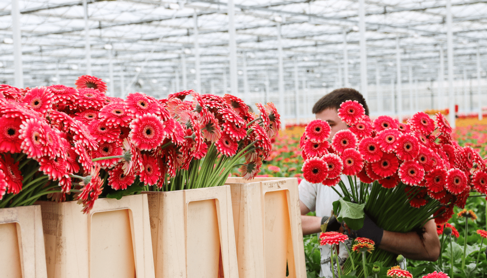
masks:
{"label": "deep red dark-centred gerbera at left photo edge, facing camera", "polygon": [[19,118],[0,118],[0,153],[20,153],[22,139],[19,138],[19,129],[22,121]]}

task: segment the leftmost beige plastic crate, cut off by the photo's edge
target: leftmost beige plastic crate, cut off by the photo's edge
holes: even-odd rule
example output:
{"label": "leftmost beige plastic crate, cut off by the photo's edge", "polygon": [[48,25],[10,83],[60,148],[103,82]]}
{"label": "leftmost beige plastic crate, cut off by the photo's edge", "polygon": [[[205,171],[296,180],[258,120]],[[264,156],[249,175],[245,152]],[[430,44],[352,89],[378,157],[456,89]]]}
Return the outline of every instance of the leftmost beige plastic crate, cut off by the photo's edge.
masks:
{"label": "leftmost beige plastic crate, cut off by the photo's edge", "polygon": [[0,209],[0,250],[0,277],[47,277],[39,206]]}

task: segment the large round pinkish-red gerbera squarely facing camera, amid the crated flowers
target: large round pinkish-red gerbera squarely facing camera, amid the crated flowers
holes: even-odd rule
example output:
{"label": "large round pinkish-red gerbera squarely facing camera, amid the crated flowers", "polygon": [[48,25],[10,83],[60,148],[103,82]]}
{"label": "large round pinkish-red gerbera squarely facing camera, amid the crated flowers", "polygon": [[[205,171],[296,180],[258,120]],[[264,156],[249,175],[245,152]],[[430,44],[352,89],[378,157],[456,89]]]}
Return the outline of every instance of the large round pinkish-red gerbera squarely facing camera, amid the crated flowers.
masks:
{"label": "large round pinkish-red gerbera squarely facing camera, amid the crated flowers", "polygon": [[130,124],[131,142],[141,150],[152,150],[166,138],[165,125],[155,114],[144,114]]}

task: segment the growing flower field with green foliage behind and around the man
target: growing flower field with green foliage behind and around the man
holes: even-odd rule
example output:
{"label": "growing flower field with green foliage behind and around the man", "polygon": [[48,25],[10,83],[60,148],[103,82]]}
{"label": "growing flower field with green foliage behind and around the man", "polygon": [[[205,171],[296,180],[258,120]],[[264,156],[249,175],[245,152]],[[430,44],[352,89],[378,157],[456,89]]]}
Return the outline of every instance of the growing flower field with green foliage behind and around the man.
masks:
{"label": "growing flower field with green foliage behind and around the man", "polygon": [[[453,138],[458,141],[461,146],[471,146],[478,151],[482,157],[487,156],[487,124],[470,122],[457,123],[457,128],[454,130]],[[301,150],[299,148],[300,136],[304,132],[304,124],[287,126],[286,130],[280,131],[273,142],[273,150],[269,159],[263,162],[260,176],[269,177],[297,177],[300,181],[302,178],[301,166],[303,159]],[[234,173],[239,175],[239,173]],[[452,236],[451,247],[453,249],[453,272],[454,278],[468,278],[468,277],[487,277],[487,261],[486,261],[486,245],[484,241],[482,251],[480,253],[479,262],[476,264],[479,255],[479,248],[482,237],[477,234],[478,229],[486,229],[486,199],[485,196],[479,196],[478,193],[472,194],[468,198],[465,209],[471,209],[477,216],[475,221],[468,220],[468,237],[467,237],[467,252],[466,252],[466,267],[462,271],[462,254],[465,243],[465,221],[466,218],[457,217],[461,209],[455,208],[455,214],[450,219],[449,223],[454,226],[459,233],[459,237]],[[313,212],[310,212],[313,215]],[[433,271],[447,271],[450,268],[450,244],[448,238],[440,234],[440,241],[443,242],[442,260],[436,262],[429,261],[407,261],[407,268],[412,273],[413,277],[422,277]],[[306,271],[308,278],[315,278],[319,275],[320,269],[320,254],[319,242],[316,235],[304,236],[304,251],[306,258]],[[370,265],[372,269],[372,264]],[[385,272],[387,267],[383,267],[378,277],[386,277]],[[451,276],[450,276],[451,277]]]}

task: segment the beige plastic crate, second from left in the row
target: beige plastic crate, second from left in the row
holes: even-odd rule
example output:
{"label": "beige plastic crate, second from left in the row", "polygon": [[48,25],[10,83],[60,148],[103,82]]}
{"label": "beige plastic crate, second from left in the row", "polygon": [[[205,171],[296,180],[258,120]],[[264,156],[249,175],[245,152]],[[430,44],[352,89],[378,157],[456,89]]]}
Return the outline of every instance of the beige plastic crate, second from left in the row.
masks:
{"label": "beige plastic crate, second from left in the row", "polygon": [[49,278],[154,278],[145,194],[98,199],[89,214],[72,202],[38,202]]}

